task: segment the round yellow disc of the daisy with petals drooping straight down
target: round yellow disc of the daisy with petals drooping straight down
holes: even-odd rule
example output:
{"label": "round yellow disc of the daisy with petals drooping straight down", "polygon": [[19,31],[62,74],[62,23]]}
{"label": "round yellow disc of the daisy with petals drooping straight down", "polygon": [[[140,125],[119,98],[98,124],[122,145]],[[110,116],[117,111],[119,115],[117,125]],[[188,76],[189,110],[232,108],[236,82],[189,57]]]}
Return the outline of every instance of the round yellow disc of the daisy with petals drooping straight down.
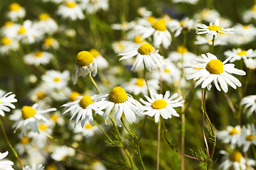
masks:
{"label": "round yellow disc of the daisy with petals drooping straight down", "polygon": [[93,62],[93,55],[88,51],[78,52],[78,55],[75,57],[75,64],[80,67],[88,66]]}

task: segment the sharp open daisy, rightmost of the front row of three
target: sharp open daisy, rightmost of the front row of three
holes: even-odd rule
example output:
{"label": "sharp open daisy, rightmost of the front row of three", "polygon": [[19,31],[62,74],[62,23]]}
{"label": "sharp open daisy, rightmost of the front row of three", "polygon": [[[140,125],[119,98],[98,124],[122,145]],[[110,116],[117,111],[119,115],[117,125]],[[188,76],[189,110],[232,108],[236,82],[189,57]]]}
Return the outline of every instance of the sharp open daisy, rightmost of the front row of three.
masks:
{"label": "sharp open daisy, rightmost of the front row of three", "polygon": [[[170,96],[170,91],[166,91],[164,96],[162,94],[156,94],[150,91],[150,96],[145,96],[147,101],[140,98],[140,101],[144,103],[144,115],[154,116],[155,122],[159,122],[160,116],[164,119],[171,118],[171,115],[179,117],[178,113],[174,110],[176,107],[182,107],[183,102],[181,96],[176,98],[178,94]],[[176,98],[176,99],[174,99]]]}

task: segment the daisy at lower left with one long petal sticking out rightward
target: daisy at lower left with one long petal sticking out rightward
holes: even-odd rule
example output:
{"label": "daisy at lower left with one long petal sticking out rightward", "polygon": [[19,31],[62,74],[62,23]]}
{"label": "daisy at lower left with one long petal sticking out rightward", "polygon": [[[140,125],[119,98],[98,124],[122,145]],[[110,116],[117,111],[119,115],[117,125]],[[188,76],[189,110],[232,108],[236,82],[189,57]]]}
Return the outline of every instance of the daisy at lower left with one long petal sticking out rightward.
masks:
{"label": "daisy at lower left with one long petal sticking out rightward", "polygon": [[47,122],[48,119],[42,114],[50,111],[57,111],[57,109],[49,108],[46,110],[41,110],[38,104],[33,104],[33,106],[23,106],[21,109],[21,115],[18,119],[16,119],[16,122],[13,125],[13,128],[15,128],[14,132],[16,132],[18,128],[22,128],[21,135],[26,135],[29,126],[33,132],[39,133],[37,122],[38,120]]}

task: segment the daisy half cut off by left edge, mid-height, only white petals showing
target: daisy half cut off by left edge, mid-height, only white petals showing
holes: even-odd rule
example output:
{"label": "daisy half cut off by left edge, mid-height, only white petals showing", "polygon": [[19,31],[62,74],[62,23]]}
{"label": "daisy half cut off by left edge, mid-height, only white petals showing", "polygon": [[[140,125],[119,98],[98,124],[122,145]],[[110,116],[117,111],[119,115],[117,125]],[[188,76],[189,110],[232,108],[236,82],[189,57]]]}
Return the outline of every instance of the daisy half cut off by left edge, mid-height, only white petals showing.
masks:
{"label": "daisy half cut off by left edge, mid-height, only white petals showing", "polygon": [[5,94],[5,91],[0,90],[0,115],[4,116],[4,111],[11,111],[10,108],[15,108],[14,102],[17,102],[17,99],[14,98],[15,94],[11,94],[11,92]]}

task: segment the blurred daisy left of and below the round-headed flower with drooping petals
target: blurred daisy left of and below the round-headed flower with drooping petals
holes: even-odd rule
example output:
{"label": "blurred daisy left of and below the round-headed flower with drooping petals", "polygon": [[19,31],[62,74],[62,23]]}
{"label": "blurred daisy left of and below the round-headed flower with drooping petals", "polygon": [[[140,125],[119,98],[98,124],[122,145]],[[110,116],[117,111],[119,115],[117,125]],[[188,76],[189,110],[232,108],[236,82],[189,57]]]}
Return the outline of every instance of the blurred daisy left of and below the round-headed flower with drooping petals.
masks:
{"label": "blurred daisy left of and below the round-headed flower with drooping petals", "polygon": [[69,79],[70,74],[68,70],[65,70],[64,72],[48,70],[46,71],[46,74],[42,76],[44,83],[48,84],[52,89],[63,89],[68,85]]}

